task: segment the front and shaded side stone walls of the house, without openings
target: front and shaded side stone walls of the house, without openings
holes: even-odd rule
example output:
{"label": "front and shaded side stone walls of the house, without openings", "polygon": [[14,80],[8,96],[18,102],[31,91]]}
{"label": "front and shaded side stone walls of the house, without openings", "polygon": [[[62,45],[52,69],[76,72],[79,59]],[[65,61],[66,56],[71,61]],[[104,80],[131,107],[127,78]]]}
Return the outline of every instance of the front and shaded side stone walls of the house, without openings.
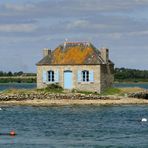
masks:
{"label": "front and shaded side stone walls of the house, without openings", "polygon": [[[100,93],[104,89],[111,87],[114,80],[113,65],[55,65],[55,66],[37,66],[37,88],[45,88],[47,84],[43,83],[43,70],[59,71],[58,84],[64,88],[64,71],[70,70],[73,74],[73,89],[82,91],[93,91]],[[93,82],[78,82],[78,71],[93,70]]]}

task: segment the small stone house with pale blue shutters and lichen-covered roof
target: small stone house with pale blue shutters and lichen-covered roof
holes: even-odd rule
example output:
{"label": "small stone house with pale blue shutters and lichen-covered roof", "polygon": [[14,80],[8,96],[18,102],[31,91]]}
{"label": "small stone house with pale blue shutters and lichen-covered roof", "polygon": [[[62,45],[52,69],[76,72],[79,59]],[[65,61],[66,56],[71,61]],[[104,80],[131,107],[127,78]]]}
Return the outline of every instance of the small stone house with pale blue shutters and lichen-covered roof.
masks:
{"label": "small stone house with pale blue shutters and lichen-covered roof", "polygon": [[37,63],[37,88],[56,83],[64,89],[100,93],[112,86],[114,64],[109,50],[89,42],[64,42],[55,50],[43,50]]}

